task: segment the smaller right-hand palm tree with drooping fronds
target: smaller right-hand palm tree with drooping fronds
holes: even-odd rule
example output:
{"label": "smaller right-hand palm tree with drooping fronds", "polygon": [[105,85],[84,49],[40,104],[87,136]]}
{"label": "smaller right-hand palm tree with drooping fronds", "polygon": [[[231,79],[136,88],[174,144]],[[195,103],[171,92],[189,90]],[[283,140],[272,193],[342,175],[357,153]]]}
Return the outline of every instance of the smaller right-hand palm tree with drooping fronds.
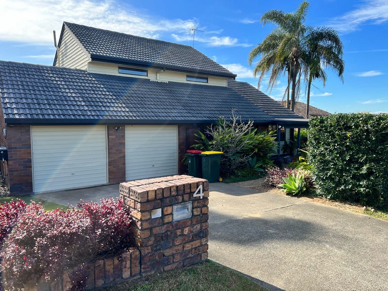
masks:
{"label": "smaller right-hand palm tree with drooping fronds", "polygon": [[303,60],[307,81],[306,118],[308,118],[311,82],[314,79],[321,79],[323,86],[325,85],[327,75],[324,68],[331,68],[336,71],[343,82],[345,65],[342,60],[342,41],[339,39],[338,33],[331,28],[319,27],[310,29],[306,36],[305,49]]}

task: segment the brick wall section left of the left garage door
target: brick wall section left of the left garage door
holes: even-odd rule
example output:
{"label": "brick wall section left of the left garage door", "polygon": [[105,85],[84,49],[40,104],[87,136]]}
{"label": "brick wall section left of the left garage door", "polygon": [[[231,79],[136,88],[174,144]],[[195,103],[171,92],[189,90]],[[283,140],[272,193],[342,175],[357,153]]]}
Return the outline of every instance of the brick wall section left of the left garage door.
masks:
{"label": "brick wall section left of the left garage door", "polygon": [[31,132],[29,125],[7,126],[8,180],[11,193],[32,193]]}

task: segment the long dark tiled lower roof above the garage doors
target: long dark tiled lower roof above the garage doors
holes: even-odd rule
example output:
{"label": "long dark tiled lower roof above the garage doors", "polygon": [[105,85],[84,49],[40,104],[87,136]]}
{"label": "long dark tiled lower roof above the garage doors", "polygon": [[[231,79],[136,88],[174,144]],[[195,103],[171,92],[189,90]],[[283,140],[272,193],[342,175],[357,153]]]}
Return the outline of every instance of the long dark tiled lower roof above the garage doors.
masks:
{"label": "long dark tiled lower roof above the garage doors", "polygon": [[[235,114],[273,116],[228,87],[92,74],[84,70],[0,61],[6,122],[206,122]],[[281,106],[277,103],[277,105]]]}

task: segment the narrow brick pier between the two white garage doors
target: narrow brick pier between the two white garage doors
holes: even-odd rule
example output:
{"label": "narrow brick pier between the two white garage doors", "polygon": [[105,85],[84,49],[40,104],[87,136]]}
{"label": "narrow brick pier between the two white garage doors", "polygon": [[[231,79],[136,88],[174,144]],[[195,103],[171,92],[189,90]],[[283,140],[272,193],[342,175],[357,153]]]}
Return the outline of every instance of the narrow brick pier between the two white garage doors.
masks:
{"label": "narrow brick pier between the two white garage doors", "polygon": [[118,131],[108,126],[109,183],[125,181],[125,126]]}

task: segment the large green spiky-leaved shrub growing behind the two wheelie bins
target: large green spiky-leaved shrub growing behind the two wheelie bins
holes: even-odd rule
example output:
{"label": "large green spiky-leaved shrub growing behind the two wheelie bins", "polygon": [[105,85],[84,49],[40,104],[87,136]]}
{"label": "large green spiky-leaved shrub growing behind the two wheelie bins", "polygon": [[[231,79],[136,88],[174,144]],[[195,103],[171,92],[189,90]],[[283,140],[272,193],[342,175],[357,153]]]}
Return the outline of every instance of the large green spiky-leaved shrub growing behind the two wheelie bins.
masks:
{"label": "large green spiky-leaved shrub growing behind the two wheelie bins", "polygon": [[274,151],[274,132],[258,132],[253,121],[243,123],[234,115],[230,120],[220,117],[205,133],[198,132],[195,136],[198,140],[193,148],[224,153],[221,158],[221,175],[225,177],[249,167],[253,158],[262,167],[272,164],[268,155]]}

